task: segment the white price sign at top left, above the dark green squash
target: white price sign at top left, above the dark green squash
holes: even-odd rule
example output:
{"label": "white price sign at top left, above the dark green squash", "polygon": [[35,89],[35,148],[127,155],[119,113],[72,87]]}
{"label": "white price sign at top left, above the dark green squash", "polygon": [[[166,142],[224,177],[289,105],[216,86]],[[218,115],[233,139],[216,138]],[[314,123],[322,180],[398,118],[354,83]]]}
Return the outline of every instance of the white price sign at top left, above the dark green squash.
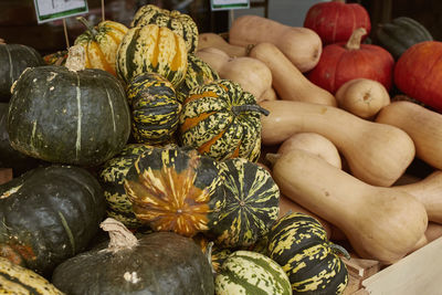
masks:
{"label": "white price sign at top left, above the dark green squash", "polygon": [[34,0],[39,23],[88,12],[87,0]]}

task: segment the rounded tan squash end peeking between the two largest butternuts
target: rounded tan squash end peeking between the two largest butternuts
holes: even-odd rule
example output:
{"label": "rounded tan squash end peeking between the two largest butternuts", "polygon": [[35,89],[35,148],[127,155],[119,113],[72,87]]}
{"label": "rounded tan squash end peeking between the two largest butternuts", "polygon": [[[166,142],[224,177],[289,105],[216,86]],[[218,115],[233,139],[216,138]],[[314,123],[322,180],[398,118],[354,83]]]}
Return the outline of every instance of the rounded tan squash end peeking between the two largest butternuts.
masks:
{"label": "rounded tan squash end peeking between the two largest butternuts", "polygon": [[277,149],[277,154],[287,152],[294,148],[309,151],[330,165],[341,168],[340,155],[335,145],[326,137],[315,133],[298,133],[288,137]]}

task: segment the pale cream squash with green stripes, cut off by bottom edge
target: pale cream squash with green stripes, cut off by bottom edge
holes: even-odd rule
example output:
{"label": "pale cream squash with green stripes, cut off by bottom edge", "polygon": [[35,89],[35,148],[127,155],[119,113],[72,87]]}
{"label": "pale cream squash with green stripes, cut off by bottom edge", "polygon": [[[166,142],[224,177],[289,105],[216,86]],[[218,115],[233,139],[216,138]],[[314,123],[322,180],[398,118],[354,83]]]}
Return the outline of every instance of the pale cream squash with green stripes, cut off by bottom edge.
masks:
{"label": "pale cream squash with green stripes, cut off by bottom edge", "polygon": [[221,265],[214,280],[217,295],[291,295],[292,286],[284,270],[270,257],[235,251]]}

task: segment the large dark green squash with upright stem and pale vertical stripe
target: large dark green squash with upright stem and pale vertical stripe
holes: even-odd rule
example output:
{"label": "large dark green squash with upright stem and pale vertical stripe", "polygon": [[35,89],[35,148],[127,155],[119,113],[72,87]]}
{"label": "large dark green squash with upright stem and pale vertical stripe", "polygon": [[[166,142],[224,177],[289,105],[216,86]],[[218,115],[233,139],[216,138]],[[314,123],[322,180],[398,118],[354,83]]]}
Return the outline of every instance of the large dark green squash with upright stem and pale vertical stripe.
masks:
{"label": "large dark green squash with upright stem and pale vertical stripe", "polygon": [[[84,57],[80,45],[70,52],[72,59]],[[106,71],[70,66],[23,72],[12,89],[9,138],[14,149],[38,159],[97,166],[118,154],[129,138],[125,89]]]}

